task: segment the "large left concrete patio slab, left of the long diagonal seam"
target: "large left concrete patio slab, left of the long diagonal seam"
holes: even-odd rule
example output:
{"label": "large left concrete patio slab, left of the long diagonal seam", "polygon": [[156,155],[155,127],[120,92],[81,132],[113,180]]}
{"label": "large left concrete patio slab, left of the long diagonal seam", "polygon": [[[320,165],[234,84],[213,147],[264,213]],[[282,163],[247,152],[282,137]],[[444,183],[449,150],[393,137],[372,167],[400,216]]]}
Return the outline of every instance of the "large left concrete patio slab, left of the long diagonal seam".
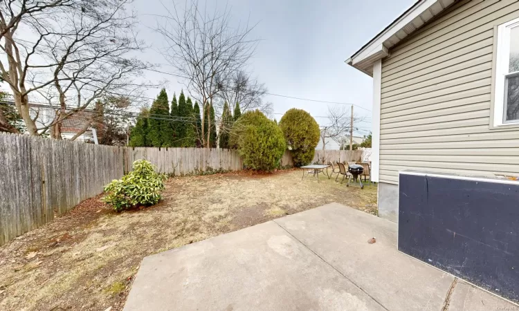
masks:
{"label": "large left concrete patio slab, left of the long diagonal seam", "polygon": [[125,310],[384,310],[273,222],[146,257]]}

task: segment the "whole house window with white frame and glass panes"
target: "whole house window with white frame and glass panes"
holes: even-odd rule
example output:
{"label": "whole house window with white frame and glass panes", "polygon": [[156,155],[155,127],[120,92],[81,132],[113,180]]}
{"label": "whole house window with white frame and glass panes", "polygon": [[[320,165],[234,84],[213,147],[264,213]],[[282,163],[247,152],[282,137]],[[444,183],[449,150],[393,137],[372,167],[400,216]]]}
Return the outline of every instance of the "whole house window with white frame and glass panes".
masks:
{"label": "whole house window with white frame and glass panes", "polygon": [[498,26],[494,125],[519,124],[519,19]]}

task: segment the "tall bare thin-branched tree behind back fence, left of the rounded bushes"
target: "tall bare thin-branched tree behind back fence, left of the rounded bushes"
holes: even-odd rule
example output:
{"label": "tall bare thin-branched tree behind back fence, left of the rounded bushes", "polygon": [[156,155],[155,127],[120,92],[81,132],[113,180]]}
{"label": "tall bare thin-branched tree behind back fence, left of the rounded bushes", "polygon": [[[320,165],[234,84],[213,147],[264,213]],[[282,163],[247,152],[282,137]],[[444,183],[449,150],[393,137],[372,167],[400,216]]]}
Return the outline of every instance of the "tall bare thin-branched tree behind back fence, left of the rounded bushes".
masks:
{"label": "tall bare thin-branched tree behind back fence, left of the rounded bushes", "polygon": [[[186,8],[161,16],[156,31],[163,35],[163,55],[183,77],[188,92],[202,105],[202,115],[210,115],[213,100],[228,88],[233,76],[246,67],[257,40],[250,39],[253,27],[230,25],[230,10],[208,12],[197,1]],[[182,12],[179,12],[182,11]],[[209,147],[210,129],[202,122],[201,142]]]}

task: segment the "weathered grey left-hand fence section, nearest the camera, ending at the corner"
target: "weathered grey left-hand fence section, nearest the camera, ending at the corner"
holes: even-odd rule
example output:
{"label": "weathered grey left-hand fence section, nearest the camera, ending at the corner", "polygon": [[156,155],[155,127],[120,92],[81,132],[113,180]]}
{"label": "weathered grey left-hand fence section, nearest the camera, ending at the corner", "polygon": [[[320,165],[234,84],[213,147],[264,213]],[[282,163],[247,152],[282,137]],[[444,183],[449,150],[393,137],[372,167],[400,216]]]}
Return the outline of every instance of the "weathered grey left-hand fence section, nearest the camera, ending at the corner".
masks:
{"label": "weathered grey left-hand fence section, nearest the camera, ending at the corner", "polygon": [[0,133],[0,245],[102,192],[123,149]]}

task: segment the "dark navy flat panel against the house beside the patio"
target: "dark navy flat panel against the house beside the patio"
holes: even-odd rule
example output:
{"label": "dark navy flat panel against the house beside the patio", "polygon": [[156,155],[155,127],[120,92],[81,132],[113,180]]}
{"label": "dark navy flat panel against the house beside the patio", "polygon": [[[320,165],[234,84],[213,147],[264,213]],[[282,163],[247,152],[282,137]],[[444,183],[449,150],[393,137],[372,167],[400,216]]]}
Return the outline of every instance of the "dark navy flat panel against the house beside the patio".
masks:
{"label": "dark navy flat panel against the house beside the patio", "polygon": [[519,183],[400,174],[401,252],[517,302],[518,234]]}

